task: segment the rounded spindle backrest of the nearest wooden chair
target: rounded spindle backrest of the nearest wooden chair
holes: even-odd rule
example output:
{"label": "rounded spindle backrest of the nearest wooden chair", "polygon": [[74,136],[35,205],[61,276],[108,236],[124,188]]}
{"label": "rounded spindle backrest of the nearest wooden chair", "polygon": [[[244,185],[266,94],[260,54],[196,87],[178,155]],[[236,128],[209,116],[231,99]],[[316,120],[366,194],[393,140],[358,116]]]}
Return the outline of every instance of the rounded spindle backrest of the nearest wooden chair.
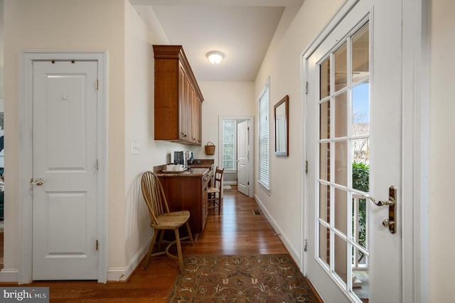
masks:
{"label": "rounded spindle backrest of the nearest wooden chair", "polygon": [[168,201],[158,176],[151,171],[144,172],[141,177],[141,191],[149,209],[151,224],[157,224],[158,216],[169,213]]}

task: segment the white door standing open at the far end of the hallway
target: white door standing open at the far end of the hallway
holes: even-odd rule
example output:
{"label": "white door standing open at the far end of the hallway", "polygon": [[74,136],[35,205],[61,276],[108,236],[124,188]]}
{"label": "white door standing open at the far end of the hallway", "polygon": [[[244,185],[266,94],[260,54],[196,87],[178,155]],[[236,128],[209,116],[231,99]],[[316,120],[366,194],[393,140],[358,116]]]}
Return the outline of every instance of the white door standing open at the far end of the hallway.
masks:
{"label": "white door standing open at the far end of the hallway", "polygon": [[249,121],[237,123],[237,190],[250,195],[250,128]]}

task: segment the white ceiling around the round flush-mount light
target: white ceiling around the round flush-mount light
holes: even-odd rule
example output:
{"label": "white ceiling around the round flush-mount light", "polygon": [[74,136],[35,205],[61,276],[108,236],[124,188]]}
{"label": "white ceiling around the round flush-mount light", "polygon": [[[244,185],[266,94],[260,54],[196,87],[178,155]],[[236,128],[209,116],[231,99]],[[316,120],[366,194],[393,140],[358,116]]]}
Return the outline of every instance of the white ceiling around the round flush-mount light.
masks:
{"label": "white ceiling around the round flush-mount light", "polygon": [[[169,43],[183,46],[196,80],[252,81],[284,8],[298,11],[304,0],[130,1],[144,19],[141,11],[154,11]],[[208,61],[210,50],[225,54],[220,64]]]}

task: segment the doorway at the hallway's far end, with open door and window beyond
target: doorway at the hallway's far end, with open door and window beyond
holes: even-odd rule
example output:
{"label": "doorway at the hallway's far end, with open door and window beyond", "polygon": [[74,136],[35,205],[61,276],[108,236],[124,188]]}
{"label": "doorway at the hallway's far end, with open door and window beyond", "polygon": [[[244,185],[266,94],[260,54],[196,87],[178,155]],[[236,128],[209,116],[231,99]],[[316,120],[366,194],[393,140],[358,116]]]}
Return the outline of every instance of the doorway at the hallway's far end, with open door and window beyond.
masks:
{"label": "doorway at the hallway's far end, with open door and window beyond", "polygon": [[[218,122],[220,146],[218,165],[225,168],[223,184],[225,186],[235,185],[237,186],[237,191],[253,197],[253,186],[250,186],[253,176],[252,163],[254,163],[253,140],[250,139],[253,138],[254,134],[253,117],[219,117]],[[242,133],[239,134],[239,131]],[[239,144],[239,139],[242,144]],[[239,151],[239,147],[242,147],[242,151]],[[238,186],[239,174],[242,182],[241,186]]]}

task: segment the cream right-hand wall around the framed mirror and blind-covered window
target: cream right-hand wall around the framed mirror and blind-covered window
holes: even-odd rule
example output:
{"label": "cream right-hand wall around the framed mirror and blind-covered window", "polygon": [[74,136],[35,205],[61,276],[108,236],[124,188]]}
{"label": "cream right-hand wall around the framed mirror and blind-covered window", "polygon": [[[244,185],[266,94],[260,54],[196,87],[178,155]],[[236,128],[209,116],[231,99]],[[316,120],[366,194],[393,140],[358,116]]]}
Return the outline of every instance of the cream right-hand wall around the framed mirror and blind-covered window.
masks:
{"label": "cream right-hand wall around the framed mirror and blind-covered window", "polygon": [[[281,233],[282,240],[297,262],[302,248],[301,234],[301,187],[302,187],[302,107],[300,55],[306,46],[326,25],[329,18],[343,3],[342,0],[306,0],[295,14],[294,9],[284,11],[282,21],[255,82],[255,98],[259,97],[267,77],[270,76],[269,117],[273,107],[285,95],[289,95],[289,157],[274,156],[274,129],[270,123],[270,196],[255,181],[255,197],[267,208],[272,223]],[[294,18],[294,19],[293,19]],[[289,27],[288,27],[289,26]],[[257,115],[257,102],[255,102]],[[257,122],[256,122],[257,125]],[[255,146],[257,142],[257,130]],[[257,171],[257,151],[255,152]]]}

